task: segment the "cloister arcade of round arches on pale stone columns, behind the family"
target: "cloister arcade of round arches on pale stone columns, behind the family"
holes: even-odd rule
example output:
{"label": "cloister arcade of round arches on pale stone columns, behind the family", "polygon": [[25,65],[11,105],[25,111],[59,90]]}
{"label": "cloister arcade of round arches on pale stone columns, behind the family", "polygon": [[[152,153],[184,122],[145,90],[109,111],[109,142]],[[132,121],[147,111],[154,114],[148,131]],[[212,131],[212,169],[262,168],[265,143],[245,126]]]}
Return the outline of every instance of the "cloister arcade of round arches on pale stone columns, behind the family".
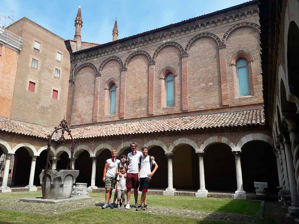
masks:
{"label": "cloister arcade of round arches on pale stone columns, behind the family", "polygon": [[[122,142],[116,148],[118,154],[131,152],[130,143]],[[168,147],[160,140],[150,140],[138,148],[142,146],[148,147],[149,154],[159,164],[151,188],[166,188],[165,194],[180,189],[196,191],[198,197],[207,197],[208,191],[225,191],[235,193],[236,198],[246,198],[246,191],[254,191],[254,181],[268,181],[269,189],[273,191],[279,185],[273,139],[266,134],[248,134],[236,145],[224,136],[212,136],[200,145],[183,137]],[[1,157],[5,156],[6,161],[2,186],[7,185],[6,164],[14,155],[13,169],[8,171],[12,173],[10,186],[26,185],[26,188],[35,190],[40,185],[39,173],[44,168],[46,146],[36,150],[33,145],[22,143],[11,149],[7,142],[0,140],[0,147]],[[108,143],[99,144],[94,150],[87,143],[78,143],[73,160],[73,168],[80,170],[76,182],[87,183],[89,189],[103,187],[105,161],[111,157],[113,149]],[[51,148],[52,169],[65,169],[70,163],[70,154],[67,146]]]}

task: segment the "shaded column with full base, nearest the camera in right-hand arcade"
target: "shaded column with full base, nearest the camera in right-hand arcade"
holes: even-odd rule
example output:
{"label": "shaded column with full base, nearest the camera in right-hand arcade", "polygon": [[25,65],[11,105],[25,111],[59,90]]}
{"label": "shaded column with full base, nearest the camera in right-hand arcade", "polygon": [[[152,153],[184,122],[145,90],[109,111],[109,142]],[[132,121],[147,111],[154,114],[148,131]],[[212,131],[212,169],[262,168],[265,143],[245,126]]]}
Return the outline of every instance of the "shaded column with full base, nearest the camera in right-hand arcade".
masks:
{"label": "shaded column with full base, nearest the camera in right-hand arcade", "polygon": [[293,154],[292,154],[292,146],[291,142],[286,139],[286,135],[289,133],[285,133],[283,136],[284,139],[284,148],[286,152],[286,164],[288,168],[288,175],[289,175],[289,184],[290,184],[290,191],[291,191],[291,198],[292,203],[289,207],[289,215],[290,216],[299,216],[299,197],[297,193],[297,182],[295,178],[295,168],[293,163]]}

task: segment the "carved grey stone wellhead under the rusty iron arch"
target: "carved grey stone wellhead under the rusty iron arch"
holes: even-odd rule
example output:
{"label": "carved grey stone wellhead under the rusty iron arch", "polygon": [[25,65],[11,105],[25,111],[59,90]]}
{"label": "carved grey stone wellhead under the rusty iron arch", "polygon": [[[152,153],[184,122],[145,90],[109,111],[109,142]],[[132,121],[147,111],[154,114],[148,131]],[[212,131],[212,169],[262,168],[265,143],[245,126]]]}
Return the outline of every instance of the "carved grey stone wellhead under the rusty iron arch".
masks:
{"label": "carved grey stone wellhead under the rusty iron arch", "polygon": [[79,175],[79,170],[49,170],[46,186],[43,183],[45,170],[39,175],[42,194],[45,199],[65,199],[72,196],[73,185]]}

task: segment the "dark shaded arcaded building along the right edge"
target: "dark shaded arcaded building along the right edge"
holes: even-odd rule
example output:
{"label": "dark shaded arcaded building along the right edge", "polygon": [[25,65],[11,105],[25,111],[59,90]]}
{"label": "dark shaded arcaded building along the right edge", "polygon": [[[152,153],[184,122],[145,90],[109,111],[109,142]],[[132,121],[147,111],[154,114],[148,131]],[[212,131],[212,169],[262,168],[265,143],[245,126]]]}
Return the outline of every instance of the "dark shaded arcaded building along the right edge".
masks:
{"label": "dark shaded arcaded building along the right edge", "polygon": [[289,223],[295,223],[299,218],[299,3],[261,1],[260,10],[265,119],[279,160],[283,211]]}

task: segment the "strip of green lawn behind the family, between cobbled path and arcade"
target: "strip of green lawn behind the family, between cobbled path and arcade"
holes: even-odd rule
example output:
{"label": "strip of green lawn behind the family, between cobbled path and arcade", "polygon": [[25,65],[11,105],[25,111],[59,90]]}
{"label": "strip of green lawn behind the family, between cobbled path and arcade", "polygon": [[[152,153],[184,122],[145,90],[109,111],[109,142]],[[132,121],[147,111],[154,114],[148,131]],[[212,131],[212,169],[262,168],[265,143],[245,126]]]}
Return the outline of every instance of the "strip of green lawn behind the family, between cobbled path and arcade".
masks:
{"label": "strip of green lawn behind the family, between cobbled path and arcade", "polygon": [[[104,200],[105,194],[91,193],[90,196]],[[138,196],[138,200],[140,200],[140,196]],[[133,195],[131,195],[131,201],[134,201]],[[258,215],[261,202],[235,199],[147,195],[147,204],[168,208]]]}

